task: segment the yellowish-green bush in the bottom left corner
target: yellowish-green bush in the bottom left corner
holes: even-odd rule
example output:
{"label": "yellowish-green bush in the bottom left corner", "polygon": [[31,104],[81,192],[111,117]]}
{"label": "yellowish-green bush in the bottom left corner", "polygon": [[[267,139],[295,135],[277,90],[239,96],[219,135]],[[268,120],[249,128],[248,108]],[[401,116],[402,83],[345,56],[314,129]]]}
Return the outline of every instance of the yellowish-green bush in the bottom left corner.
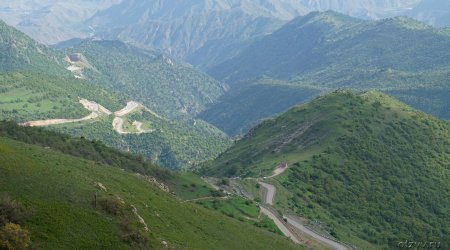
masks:
{"label": "yellowish-green bush in the bottom left corner", "polygon": [[28,230],[14,223],[6,224],[0,230],[0,248],[8,250],[28,249],[31,240]]}

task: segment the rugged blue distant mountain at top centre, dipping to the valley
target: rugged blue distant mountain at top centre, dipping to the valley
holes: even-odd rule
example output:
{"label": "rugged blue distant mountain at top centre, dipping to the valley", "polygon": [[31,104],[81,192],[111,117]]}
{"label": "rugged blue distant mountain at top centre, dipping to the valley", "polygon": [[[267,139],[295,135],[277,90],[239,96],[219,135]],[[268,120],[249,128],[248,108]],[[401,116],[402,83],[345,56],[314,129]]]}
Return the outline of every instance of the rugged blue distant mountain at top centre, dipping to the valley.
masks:
{"label": "rugged blue distant mountain at top centre, dipping to the valley", "polygon": [[100,37],[150,45],[207,69],[236,55],[282,23],[310,11],[332,9],[363,18],[378,18],[417,2],[133,0],[101,11],[87,23]]}

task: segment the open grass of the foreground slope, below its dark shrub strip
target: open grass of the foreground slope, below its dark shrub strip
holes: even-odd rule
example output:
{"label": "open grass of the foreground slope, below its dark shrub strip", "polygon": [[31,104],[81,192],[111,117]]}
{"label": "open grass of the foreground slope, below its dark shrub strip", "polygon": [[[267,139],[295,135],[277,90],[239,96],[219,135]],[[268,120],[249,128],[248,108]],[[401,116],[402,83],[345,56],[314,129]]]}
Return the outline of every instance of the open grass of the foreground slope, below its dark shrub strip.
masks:
{"label": "open grass of the foreground slope, below its dark shrub strip", "polygon": [[[149,244],[178,248],[292,248],[287,240],[160,191],[143,178],[51,149],[0,138],[0,193],[33,212],[26,224],[45,249],[127,249],[119,219],[93,207],[94,194],[134,205],[148,223]],[[107,192],[94,186],[100,182]],[[136,219],[137,221],[137,219]],[[134,226],[141,225],[134,221]],[[137,229],[140,230],[140,229]]]}

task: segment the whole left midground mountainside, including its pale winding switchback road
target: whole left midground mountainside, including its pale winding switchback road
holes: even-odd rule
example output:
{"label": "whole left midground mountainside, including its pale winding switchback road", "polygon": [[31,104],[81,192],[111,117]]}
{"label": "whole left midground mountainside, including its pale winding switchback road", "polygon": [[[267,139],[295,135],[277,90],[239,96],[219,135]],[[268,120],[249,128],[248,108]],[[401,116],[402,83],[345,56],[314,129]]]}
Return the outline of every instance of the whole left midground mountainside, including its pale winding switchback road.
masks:
{"label": "whole left midground mountainside, including its pale winding switchback road", "polygon": [[[103,140],[178,169],[230,143],[217,128],[191,118],[223,88],[204,74],[120,42],[83,43],[84,56],[0,27],[0,119]],[[177,116],[183,120],[169,119]]]}

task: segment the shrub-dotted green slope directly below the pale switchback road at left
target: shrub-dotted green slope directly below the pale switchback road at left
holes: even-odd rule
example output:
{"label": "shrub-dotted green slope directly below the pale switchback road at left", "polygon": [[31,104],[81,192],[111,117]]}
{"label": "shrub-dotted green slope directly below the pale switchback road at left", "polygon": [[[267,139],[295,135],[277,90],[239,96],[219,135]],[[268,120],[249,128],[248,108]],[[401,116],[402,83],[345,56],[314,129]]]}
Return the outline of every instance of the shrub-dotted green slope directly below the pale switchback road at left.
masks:
{"label": "shrub-dotted green slope directly below the pale switchback road at left", "polygon": [[73,136],[102,140],[109,146],[141,154],[171,169],[195,168],[230,144],[230,139],[224,133],[203,121],[198,121],[194,126],[148,115],[132,117],[133,121],[136,119],[151,124],[151,129],[155,131],[120,135],[112,130],[112,116],[94,123],[64,124],[52,126],[51,129]]}

